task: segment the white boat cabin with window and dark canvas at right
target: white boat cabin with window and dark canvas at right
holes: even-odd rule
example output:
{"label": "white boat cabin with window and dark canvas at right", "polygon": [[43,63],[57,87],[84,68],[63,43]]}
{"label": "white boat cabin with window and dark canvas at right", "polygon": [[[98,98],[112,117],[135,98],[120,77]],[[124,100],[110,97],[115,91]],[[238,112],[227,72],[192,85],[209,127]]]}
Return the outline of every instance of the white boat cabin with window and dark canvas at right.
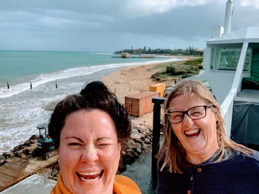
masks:
{"label": "white boat cabin with window and dark canvas at right", "polygon": [[224,35],[222,28],[214,27],[206,43],[205,76],[221,104],[227,136],[259,145],[259,27]]}

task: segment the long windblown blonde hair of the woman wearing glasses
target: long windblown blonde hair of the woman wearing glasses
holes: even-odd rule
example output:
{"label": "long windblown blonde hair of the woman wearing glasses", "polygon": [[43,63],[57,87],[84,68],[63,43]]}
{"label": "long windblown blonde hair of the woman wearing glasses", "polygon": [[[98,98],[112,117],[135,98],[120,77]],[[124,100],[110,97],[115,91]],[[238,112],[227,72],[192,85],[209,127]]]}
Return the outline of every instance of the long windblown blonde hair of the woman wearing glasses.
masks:
{"label": "long windblown blonde hair of the woman wearing glasses", "polygon": [[[252,149],[249,149],[241,144],[235,143],[231,139],[226,137],[225,129],[224,129],[224,120],[220,114],[220,105],[217,100],[212,96],[211,92],[207,87],[200,81],[196,80],[188,80],[183,81],[174,88],[174,90],[168,95],[167,100],[164,103],[164,112],[169,108],[169,104],[171,100],[179,95],[198,95],[201,99],[203,99],[208,104],[214,105],[215,114],[218,116],[217,124],[217,140],[220,148],[220,153],[216,162],[220,162],[221,160],[226,160],[230,157],[230,149],[234,149],[240,151],[244,154],[254,153]],[[158,159],[158,164],[160,164],[159,168],[162,171],[165,167],[169,168],[171,173],[180,173],[183,174],[183,170],[190,167],[192,164],[188,162],[186,158],[185,149],[182,147],[180,141],[176,137],[171,123],[169,122],[167,116],[164,114],[164,141],[159,149],[156,157]],[[228,156],[223,158],[225,151],[228,151]],[[161,164],[161,162],[163,164]]]}

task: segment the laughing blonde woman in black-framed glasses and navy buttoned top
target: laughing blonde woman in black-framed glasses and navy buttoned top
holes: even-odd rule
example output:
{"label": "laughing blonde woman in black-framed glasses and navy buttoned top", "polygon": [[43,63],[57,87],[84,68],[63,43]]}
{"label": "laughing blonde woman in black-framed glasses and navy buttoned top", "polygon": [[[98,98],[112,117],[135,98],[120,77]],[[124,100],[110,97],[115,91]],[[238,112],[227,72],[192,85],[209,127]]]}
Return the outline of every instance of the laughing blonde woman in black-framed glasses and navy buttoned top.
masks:
{"label": "laughing blonde woman in black-framed glasses and navy buttoned top", "polygon": [[178,84],[164,110],[159,194],[258,193],[259,153],[226,137],[220,105],[203,83]]}

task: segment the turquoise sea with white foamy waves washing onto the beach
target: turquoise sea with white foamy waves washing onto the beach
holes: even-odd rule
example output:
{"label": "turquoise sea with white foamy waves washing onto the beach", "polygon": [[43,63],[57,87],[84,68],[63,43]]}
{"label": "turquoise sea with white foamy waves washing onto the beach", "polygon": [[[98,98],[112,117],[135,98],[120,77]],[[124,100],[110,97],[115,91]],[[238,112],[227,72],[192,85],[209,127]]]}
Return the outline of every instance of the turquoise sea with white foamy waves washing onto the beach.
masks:
{"label": "turquoise sea with white foamy waves washing onto the beach", "polygon": [[[0,51],[0,154],[38,134],[51,101],[80,92],[89,80],[119,68],[175,58],[111,58],[112,53]],[[58,88],[55,87],[57,81]],[[9,82],[10,89],[7,89]],[[32,89],[30,89],[30,82]]]}

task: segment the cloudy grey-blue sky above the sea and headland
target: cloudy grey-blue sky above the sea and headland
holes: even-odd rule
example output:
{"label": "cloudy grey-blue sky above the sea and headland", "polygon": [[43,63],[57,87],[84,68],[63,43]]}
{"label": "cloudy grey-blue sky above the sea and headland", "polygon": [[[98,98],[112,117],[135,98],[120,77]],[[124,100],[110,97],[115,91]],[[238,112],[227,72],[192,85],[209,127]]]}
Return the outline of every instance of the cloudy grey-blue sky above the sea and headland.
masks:
{"label": "cloudy grey-blue sky above the sea and headland", "polygon": [[[0,50],[203,49],[227,0],[1,0]],[[259,0],[235,0],[233,31],[259,26]]]}

